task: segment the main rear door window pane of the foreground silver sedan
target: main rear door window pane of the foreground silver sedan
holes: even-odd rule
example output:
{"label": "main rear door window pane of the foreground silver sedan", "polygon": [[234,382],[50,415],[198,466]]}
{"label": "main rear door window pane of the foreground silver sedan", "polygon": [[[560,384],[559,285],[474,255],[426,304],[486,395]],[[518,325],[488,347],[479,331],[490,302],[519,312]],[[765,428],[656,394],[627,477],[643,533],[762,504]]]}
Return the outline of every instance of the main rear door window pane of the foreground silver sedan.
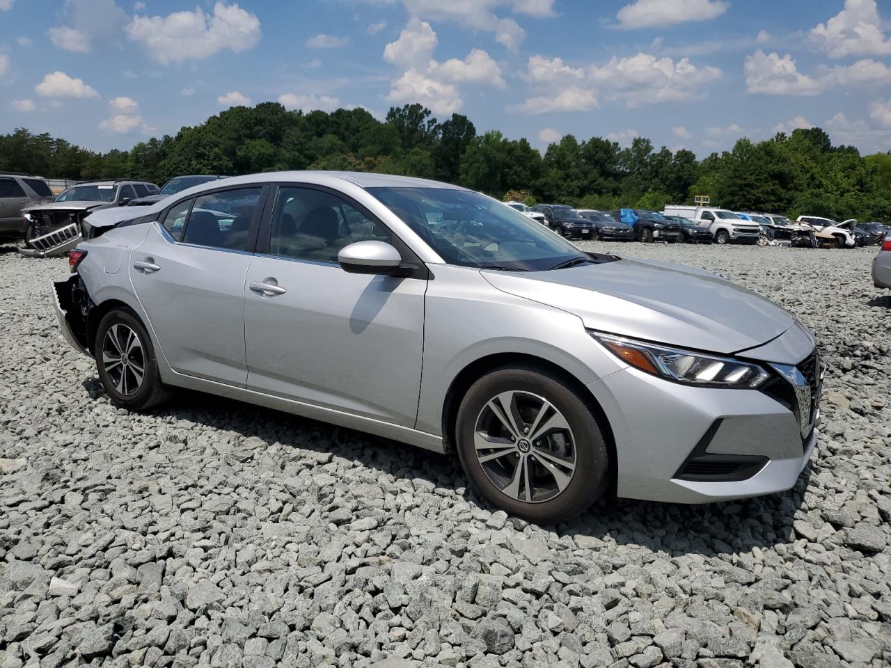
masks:
{"label": "main rear door window pane of the foreground silver sedan", "polygon": [[183,241],[196,246],[247,250],[250,222],[262,191],[257,186],[195,198]]}

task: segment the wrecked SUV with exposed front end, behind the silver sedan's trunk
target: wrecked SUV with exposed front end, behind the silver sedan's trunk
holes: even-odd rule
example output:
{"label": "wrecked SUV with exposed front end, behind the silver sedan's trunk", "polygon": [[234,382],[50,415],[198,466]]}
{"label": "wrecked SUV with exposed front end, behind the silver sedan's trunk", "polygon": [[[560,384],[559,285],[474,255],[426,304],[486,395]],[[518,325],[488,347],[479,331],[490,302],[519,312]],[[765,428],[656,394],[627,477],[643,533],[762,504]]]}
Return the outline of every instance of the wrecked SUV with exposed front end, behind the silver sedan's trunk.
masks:
{"label": "wrecked SUV with exposed front end, behind the silver sedan's trunk", "polygon": [[71,186],[52,202],[23,208],[28,220],[22,255],[49,257],[61,255],[78,245],[83,237],[84,218],[94,211],[123,207],[137,197],[158,191],[145,181],[95,181]]}

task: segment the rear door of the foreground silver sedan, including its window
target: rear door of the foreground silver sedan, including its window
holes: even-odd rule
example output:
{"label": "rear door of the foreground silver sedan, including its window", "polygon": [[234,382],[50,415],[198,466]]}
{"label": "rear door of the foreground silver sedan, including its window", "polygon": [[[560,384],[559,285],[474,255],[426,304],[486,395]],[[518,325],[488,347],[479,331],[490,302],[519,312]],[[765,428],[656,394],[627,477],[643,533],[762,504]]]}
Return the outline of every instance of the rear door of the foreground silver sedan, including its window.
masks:
{"label": "rear door of the foreground silver sedan, including its window", "polygon": [[244,281],[268,188],[180,200],[130,256],[130,277],[174,371],[244,387]]}

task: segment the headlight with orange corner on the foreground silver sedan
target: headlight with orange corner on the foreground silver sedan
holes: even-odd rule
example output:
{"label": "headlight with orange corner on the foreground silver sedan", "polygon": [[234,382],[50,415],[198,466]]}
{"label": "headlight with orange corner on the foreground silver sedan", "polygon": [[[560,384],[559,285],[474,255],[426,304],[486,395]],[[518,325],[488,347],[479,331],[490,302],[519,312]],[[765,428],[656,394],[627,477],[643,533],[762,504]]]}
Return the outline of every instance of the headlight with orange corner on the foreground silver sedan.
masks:
{"label": "headlight with orange corner on the foreground silver sedan", "polygon": [[731,357],[657,346],[600,332],[589,333],[610,353],[635,369],[685,385],[754,389],[770,378],[770,374],[757,364]]}

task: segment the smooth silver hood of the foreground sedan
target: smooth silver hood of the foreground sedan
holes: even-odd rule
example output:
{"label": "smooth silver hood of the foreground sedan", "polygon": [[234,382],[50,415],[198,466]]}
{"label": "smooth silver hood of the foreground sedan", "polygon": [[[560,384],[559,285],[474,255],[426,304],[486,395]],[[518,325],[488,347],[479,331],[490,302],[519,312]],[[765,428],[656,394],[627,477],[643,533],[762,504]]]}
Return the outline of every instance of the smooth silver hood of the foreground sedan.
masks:
{"label": "smooth silver hood of the foreground sedan", "polygon": [[730,354],[795,322],[781,306],[713,273],[622,259],[550,272],[484,270],[496,289],[576,314],[591,330]]}

